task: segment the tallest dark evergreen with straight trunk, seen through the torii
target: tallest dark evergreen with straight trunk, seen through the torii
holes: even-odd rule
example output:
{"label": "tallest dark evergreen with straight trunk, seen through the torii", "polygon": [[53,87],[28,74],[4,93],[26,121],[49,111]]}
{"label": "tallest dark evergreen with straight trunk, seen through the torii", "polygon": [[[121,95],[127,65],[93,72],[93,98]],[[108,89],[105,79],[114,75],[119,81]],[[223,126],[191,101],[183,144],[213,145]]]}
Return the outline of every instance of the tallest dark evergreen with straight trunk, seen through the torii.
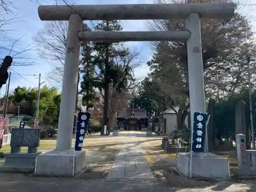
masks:
{"label": "tallest dark evergreen with straight trunk, seen through the torii", "polygon": [[[122,30],[119,20],[101,21],[94,26],[94,31],[120,31]],[[83,50],[83,54],[86,54]],[[102,42],[96,41],[91,44],[90,62],[84,65],[84,76],[81,82],[82,91],[89,94],[84,99],[88,102],[94,99],[95,88],[103,92],[103,118],[102,130],[104,125],[109,125],[108,111],[110,101],[110,87],[113,87],[119,94],[127,87],[127,83],[133,81],[133,68],[138,63],[131,63],[138,56],[136,52],[130,52],[124,48],[122,42]]]}

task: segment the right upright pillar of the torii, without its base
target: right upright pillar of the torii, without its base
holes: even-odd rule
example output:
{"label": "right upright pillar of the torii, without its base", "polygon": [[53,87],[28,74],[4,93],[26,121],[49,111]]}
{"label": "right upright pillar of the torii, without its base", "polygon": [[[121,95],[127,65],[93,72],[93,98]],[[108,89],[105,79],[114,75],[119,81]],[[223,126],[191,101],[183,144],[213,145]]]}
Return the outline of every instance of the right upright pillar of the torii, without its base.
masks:
{"label": "right upright pillar of the torii, without its base", "polygon": [[[205,113],[201,29],[200,29],[200,17],[198,14],[190,13],[187,16],[186,29],[190,32],[190,37],[187,40],[187,60],[188,60],[191,131],[193,132],[194,113],[195,112]],[[206,137],[207,137],[207,134],[206,134]],[[205,149],[207,148],[208,148],[208,143],[205,143]]]}

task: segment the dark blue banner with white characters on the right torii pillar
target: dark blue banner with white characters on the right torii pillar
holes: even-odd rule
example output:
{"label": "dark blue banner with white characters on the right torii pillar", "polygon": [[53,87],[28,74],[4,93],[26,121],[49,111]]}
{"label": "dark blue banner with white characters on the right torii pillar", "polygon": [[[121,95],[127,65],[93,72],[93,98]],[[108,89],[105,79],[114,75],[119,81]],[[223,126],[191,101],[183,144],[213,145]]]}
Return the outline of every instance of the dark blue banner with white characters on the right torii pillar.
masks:
{"label": "dark blue banner with white characters on the right torii pillar", "polygon": [[207,114],[205,113],[194,113],[194,124],[193,124],[193,152],[204,152],[204,141],[206,134],[206,122]]}

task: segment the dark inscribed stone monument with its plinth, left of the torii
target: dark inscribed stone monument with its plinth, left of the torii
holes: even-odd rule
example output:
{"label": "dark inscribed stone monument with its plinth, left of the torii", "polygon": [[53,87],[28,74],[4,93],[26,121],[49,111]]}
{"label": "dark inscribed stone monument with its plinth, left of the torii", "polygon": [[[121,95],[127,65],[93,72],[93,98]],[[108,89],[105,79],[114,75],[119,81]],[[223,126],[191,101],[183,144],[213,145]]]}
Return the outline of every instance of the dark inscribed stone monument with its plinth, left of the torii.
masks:
{"label": "dark inscribed stone monument with its plinth, left of the torii", "polygon": [[[5,164],[1,170],[9,172],[34,172],[40,141],[40,129],[12,129],[11,153],[5,155]],[[20,152],[21,147],[28,147],[28,152]]]}

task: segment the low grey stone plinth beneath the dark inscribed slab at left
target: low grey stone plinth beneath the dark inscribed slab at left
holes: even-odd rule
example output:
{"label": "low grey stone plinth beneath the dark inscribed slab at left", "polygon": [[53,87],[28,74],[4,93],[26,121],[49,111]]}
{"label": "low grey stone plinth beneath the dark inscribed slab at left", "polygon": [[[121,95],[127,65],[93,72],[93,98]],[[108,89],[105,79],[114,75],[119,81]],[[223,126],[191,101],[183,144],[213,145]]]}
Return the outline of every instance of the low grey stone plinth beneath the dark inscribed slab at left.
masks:
{"label": "low grey stone plinth beneath the dark inscribed slab at left", "polygon": [[10,153],[5,154],[5,164],[0,166],[2,172],[33,173],[37,153]]}

